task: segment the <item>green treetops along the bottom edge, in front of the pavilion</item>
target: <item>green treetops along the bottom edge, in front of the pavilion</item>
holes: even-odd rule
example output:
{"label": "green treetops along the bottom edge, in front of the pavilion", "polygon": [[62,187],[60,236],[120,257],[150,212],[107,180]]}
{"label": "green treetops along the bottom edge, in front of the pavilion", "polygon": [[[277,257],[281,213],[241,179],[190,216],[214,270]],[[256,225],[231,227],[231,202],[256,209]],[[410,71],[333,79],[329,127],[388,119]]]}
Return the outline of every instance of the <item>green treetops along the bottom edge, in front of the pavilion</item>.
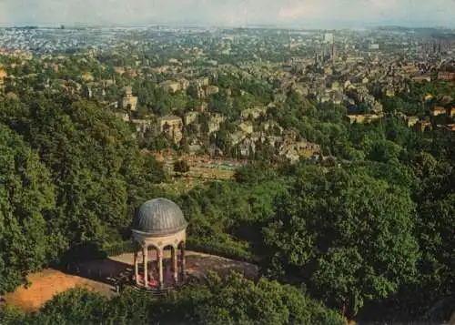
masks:
{"label": "green treetops along the bottom edge, in front of the pavilion", "polygon": [[57,295],[37,313],[6,310],[0,322],[13,324],[320,324],[342,325],[332,310],[308,298],[301,290],[260,279],[257,284],[231,274],[210,275],[165,300],[126,289],[111,300],[70,289]]}

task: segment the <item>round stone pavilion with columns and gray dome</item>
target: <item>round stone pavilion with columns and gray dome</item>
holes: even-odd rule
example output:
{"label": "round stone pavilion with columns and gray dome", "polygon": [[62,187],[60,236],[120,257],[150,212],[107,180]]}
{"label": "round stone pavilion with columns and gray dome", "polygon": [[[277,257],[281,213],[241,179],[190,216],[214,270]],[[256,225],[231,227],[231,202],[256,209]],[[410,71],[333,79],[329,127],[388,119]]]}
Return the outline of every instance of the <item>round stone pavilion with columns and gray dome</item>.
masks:
{"label": "round stone pavilion with columns and gray dome", "polygon": [[168,289],[183,283],[187,225],[182,210],[167,198],[149,200],[139,208],[132,226],[138,287]]}

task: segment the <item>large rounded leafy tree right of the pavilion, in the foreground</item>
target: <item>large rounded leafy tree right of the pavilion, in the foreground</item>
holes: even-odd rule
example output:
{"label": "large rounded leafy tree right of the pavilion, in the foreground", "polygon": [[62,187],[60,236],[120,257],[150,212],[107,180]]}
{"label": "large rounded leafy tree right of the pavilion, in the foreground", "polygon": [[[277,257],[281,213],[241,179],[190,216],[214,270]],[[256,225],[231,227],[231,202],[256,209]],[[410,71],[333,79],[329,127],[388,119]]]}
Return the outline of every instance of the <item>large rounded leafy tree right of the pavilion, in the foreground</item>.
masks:
{"label": "large rounded leafy tree right of the pavilion, in the foreground", "polygon": [[264,230],[274,252],[269,267],[352,316],[415,275],[414,205],[385,181],[311,169],[278,198],[276,221]]}

